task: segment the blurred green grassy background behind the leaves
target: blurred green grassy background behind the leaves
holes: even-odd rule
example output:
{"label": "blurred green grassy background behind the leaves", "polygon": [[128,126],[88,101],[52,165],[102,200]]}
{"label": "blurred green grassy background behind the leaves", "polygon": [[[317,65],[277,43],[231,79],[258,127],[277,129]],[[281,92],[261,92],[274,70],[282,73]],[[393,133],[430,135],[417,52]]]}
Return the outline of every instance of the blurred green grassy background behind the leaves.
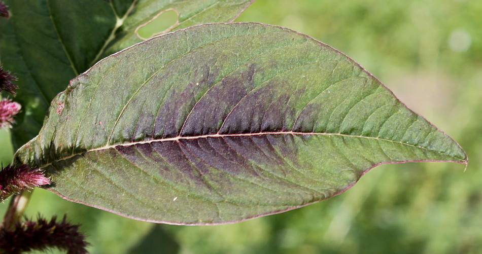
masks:
{"label": "blurred green grassy background behind the leaves", "polygon": [[[138,222],[40,189],[27,216],[67,213],[91,253],[482,253],[482,1],[258,0],[236,21],[289,27],[349,55],[459,141],[467,170],[382,165],[330,200],[232,225]],[[5,165],[6,130],[0,143]]]}

